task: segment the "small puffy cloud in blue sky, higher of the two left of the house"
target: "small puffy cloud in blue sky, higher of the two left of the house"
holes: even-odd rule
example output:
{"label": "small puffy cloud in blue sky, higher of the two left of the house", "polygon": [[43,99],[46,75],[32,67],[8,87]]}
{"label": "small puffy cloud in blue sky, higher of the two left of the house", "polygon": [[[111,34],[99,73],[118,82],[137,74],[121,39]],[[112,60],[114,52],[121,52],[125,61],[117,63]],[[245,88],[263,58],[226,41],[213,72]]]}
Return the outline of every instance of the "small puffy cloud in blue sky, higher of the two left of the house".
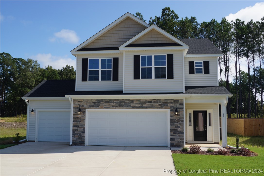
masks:
{"label": "small puffy cloud in blue sky, higher of the two left of the house", "polygon": [[68,42],[73,44],[79,43],[79,37],[77,36],[76,32],[69,29],[62,29],[60,32],[54,33],[55,37],[51,37],[49,41],[55,42]]}

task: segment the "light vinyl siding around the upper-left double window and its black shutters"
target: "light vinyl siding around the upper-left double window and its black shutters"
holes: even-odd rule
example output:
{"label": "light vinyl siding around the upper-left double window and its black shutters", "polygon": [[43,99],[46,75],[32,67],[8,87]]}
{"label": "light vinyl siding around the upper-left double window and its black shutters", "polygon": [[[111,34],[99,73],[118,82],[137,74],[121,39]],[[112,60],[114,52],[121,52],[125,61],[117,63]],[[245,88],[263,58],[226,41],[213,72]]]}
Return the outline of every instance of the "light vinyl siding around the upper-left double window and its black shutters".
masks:
{"label": "light vinyl siding around the upper-left double window and its black shutters", "polygon": [[[83,81],[82,58],[118,58],[118,81]],[[76,91],[122,91],[123,90],[123,54],[78,55],[76,66]],[[113,74],[113,73],[112,73]]]}

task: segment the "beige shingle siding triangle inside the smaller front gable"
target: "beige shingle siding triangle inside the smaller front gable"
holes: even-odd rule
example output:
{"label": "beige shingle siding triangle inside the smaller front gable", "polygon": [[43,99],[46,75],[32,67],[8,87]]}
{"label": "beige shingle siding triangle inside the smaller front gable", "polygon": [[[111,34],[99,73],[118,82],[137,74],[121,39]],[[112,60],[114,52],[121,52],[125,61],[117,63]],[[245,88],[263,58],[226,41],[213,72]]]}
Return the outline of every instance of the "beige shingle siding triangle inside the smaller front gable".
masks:
{"label": "beige shingle siding triangle inside the smaller front gable", "polygon": [[147,34],[140,37],[138,40],[133,42],[133,44],[146,44],[146,43],[175,43],[168,39],[155,29],[150,30]]}

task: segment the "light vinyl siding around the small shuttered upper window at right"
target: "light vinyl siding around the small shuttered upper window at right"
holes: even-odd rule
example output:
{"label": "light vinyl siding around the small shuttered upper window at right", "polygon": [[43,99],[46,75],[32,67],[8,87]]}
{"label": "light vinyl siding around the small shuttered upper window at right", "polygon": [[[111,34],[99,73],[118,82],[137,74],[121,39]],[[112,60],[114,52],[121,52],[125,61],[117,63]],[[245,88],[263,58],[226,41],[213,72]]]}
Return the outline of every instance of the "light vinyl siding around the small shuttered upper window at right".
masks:
{"label": "light vinyl siding around the small shuttered upper window at right", "polygon": [[[189,61],[209,61],[210,74],[189,74]],[[217,86],[218,63],[216,57],[184,58],[185,86]]]}

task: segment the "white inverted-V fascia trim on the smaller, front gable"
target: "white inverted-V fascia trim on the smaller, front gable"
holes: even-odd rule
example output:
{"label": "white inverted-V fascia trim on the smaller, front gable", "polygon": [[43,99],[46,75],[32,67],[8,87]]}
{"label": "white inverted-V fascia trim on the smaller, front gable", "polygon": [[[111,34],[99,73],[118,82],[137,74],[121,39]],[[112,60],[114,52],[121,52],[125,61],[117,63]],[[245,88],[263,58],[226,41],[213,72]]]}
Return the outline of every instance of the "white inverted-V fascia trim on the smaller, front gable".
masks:
{"label": "white inverted-V fascia trim on the smaller, front gable", "polygon": [[170,35],[168,32],[165,32],[164,30],[162,30],[161,28],[159,28],[156,25],[151,25],[150,27],[148,27],[147,29],[145,29],[144,31],[140,32],[138,35],[134,36],[132,39],[128,40],[127,42],[125,42],[123,45],[121,45],[120,47],[125,47],[129,44],[131,44],[132,42],[134,42],[135,40],[139,39],[140,37],[142,37],[143,35],[145,35],[147,32],[149,32],[150,30],[155,29],[158,32],[160,32],[161,34],[163,34],[164,36],[168,37],[169,39],[173,40],[174,42],[182,45],[182,46],[188,46],[185,43],[183,43],[182,41],[180,41],[179,39],[177,39],[176,37],[173,37],[172,35]]}

